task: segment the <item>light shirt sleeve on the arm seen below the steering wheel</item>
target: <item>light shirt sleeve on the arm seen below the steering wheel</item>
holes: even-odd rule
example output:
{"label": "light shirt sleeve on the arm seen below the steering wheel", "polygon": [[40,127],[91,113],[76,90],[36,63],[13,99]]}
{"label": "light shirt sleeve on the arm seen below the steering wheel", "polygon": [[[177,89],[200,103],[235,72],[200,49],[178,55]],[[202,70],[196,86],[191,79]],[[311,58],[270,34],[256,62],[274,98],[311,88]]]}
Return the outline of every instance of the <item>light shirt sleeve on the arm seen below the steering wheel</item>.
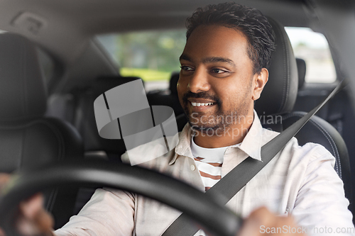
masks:
{"label": "light shirt sleeve on the arm seen below the steering wheel", "polygon": [[54,233],[58,236],[132,235],[134,201],[135,196],[126,191],[97,189],[80,213]]}

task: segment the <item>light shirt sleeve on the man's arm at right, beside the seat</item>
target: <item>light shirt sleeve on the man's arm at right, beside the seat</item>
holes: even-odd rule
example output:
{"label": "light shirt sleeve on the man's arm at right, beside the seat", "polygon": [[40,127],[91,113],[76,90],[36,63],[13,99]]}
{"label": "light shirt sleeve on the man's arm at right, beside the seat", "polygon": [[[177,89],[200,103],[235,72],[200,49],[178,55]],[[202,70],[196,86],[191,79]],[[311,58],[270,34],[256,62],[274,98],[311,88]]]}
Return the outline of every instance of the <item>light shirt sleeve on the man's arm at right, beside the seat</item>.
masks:
{"label": "light shirt sleeve on the man's arm at right, beside the seat", "polygon": [[292,215],[307,235],[355,235],[334,157],[317,145],[309,160]]}

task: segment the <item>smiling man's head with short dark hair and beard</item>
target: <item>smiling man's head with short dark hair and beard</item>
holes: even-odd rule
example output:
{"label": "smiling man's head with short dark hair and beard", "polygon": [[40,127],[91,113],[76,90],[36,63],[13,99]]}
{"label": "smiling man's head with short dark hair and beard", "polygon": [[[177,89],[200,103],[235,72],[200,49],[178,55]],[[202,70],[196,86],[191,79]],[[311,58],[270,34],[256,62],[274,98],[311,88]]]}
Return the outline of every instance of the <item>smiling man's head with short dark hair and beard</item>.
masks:
{"label": "smiling man's head with short dark hair and beard", "polygon": [[273,42],[266,18],[246,6],[209,5],[187,19],[178,94],[193,128],[217,135],[252,120],[253,101],[268,80]]}

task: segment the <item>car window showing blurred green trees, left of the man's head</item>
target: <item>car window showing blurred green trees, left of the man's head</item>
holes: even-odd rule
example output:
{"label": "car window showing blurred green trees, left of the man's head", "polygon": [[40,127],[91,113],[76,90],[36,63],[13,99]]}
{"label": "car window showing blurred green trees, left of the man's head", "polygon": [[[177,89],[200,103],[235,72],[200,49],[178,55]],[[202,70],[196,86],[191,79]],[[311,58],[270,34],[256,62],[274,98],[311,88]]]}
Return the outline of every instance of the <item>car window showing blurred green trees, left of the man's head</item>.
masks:
{"label": "car window showing blurred green trees, left of the man's head", "polygon": [[141,77],[146,91],[166,89],[172,72],[180,71],[179,57],[186,29],[98,35],[122,76]]}

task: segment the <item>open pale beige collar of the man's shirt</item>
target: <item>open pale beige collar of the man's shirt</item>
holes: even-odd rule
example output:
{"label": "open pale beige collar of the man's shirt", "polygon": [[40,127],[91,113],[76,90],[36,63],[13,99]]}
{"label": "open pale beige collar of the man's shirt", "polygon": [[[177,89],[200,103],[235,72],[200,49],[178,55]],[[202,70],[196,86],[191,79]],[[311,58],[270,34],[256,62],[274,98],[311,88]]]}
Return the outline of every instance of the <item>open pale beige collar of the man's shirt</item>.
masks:
{"label": "open pale beige collar of the man's shirt", "polygon": [[[187,123],[180,133],[178,145],[175,147],[175,156],[173,157],[173,159],[170,160],[170,165],[175,163],[179,155],[193,158],[190,147],[192,135],[193,133],[191,126],[189,125],[189,123]],[[246,137],[244,137],[244,140],[241,142],[240,145],[233,145],[231,147],[239,148],[240,150],[248,154],[249,157],[261,161],[262,139],[263,126],[260,123],[258,114],[254,110],[253,123],[251,124],[251,128],[246,134]]]}

